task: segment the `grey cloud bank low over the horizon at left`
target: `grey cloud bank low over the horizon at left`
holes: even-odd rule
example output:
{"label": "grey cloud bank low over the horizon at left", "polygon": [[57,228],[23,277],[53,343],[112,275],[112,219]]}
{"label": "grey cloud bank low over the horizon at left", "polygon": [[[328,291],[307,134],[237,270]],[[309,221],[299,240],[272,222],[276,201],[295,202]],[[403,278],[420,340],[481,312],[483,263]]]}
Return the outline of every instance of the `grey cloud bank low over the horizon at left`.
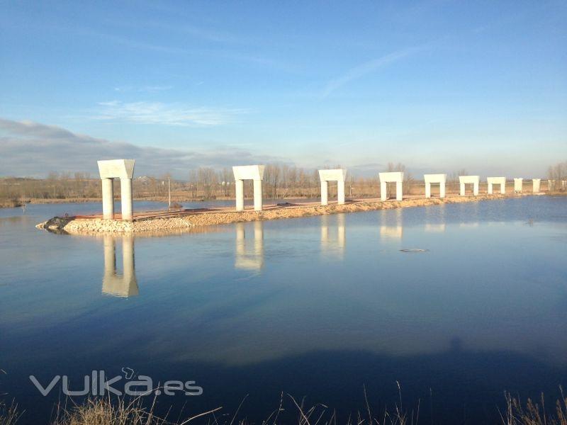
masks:
{"label": "grey cloud bank low over the horizon at left", "polygon": [[198,166],[219,169],[282,160],[252,154],[241,147],[207,149],[205,146],[203,142],[193,150],[140,147],[77,134],[53,125],[0,118],[0,176],[45,176],[49,171],[81,171],[96,176],[98,159],[133,158],[138,176],[171,172],[178,178],[186,178],[189,170]]}

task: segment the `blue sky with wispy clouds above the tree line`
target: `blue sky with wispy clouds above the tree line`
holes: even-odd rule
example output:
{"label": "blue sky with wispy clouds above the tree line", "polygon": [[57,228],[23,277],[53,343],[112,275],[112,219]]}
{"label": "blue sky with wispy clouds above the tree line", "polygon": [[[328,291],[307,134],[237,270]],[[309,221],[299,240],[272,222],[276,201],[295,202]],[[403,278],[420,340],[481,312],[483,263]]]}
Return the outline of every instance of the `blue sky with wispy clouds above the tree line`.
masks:
{"label": "blue sky with wispy clouds above the tree line", "polygon": [[272,161],[529,178],[567,159],[565,1],[0,7],[0,175],[130,154],[179,177]]}

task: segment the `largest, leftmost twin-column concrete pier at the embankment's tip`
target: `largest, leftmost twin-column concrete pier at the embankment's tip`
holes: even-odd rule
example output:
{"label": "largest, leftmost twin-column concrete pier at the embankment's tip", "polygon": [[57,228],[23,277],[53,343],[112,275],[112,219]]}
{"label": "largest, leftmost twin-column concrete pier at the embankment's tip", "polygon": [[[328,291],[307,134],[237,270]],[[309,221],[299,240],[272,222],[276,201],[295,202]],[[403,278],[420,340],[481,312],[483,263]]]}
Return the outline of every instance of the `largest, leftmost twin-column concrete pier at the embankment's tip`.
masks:
{"label": "largest, leftmost twin-column concrete pier at the embankment's tip", "polygon": [[134,159],[107,159],[97,161],[102,182],[102,215],[103,218],[114,218],[114,186],[113,180],[120,179],[120,205],[122,220],[133,219],[132,177],[134,175]]}

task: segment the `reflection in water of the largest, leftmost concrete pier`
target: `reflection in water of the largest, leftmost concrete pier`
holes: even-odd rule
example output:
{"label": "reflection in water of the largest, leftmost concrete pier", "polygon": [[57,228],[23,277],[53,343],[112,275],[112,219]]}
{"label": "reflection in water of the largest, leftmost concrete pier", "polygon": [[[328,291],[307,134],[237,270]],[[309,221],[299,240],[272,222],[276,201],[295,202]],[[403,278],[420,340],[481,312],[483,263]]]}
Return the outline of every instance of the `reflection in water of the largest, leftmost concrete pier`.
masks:
{"label": "reflection in water of the largest, leftmost concrete pier", "polygon": [[122,268],[123,273],[116,273],[116,239],[111,235],[104,236],[104,276],[102,292],[115,297],[130,297],[138,295],[135,265],[134,237],[122,238]]}

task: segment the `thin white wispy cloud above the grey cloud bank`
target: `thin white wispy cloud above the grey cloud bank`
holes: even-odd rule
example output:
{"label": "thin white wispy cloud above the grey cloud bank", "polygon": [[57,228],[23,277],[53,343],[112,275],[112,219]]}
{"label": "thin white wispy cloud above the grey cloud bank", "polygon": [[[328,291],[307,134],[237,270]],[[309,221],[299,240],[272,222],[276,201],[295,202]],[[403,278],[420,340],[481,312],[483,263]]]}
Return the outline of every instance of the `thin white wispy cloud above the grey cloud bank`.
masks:
{"label": "thin white wispy cloud above the grey cloud bank", "polygon": [[120,120],[130,123],[160,125],[215,126],[232,122],[245,109],[191,108],[161,102],[109,101],[99,103],[93,117],[97,120]]}

